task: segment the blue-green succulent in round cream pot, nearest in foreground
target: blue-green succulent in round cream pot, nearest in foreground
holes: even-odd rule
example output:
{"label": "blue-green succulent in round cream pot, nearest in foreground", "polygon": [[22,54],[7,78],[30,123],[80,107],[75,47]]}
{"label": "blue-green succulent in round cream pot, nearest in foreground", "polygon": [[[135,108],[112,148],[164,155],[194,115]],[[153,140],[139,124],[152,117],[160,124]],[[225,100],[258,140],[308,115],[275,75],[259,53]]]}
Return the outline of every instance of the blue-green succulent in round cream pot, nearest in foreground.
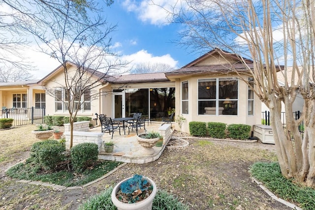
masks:
{"label": "blue-green succulent in round cream pot, nearest in foreground", "polygon": [[114,187],[111,199],[118,210],[151,210],[156,194],[153,180],[135,174]]}

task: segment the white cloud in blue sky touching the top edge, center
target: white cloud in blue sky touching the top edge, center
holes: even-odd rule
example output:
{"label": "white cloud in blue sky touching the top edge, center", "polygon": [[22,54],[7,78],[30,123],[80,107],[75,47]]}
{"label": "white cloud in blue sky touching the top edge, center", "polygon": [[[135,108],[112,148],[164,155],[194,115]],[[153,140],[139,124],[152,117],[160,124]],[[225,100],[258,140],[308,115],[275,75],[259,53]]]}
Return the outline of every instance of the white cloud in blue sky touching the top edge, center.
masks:
{"label": "white cloud in blue sky touching the top edge, center", "polygon": [[178,8],[178,0],[125,0],[123,6],[129,12],[134,12],[143,22],[153,25],[168,25],[168,18],[171,18],[169,11],[173,7]]}

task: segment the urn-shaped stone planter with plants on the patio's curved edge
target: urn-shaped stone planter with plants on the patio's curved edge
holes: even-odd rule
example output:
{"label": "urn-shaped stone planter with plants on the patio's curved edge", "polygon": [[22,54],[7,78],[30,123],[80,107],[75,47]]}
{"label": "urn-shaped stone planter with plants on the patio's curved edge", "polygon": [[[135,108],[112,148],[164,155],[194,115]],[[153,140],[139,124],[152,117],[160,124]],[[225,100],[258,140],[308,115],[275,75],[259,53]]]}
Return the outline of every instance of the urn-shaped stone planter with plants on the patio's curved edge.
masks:
{"label": "urn-shaped stone planter with plants on the patio's curved edge", "polygon": [[161,134],[156,131],[146,132],[137,136],[138,143],[144,148],[143,154],[153,154],[153,147],[157,144],[158,140],[163,138]]}

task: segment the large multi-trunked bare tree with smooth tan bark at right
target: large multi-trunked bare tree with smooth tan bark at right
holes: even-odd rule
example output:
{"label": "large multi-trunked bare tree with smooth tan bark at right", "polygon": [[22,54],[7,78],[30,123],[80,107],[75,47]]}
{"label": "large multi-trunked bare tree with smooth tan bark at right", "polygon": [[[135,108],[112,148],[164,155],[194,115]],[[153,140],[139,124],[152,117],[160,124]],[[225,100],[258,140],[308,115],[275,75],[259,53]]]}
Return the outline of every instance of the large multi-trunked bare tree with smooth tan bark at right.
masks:
{"label": "large multi-trunked bare tree with smooth tan bark at right", "polygon": [[[221,48],[242,55],[239,59],[248,76],[254,79],[255,93],[270,109],[283,176],[314,188],[315,2],[186,0],[170,13],[173,22],[186,27],[178,41],[183,46],[199,52]],[[218,50],[222,57],[226,51]],[[253,60],[252,67],[244,57]],[[287,68],[289,65],[291,70]],[[231,71],[238,73],[233,63],[230,66]],[[279,75],[284,77],[284,85],[278,82]],[[292,103],[298,93],[305,104],[302,117],[295,120]],[[281,102],[284,102],[286,128],[281,122]],[[302,120],[303,136],[298,130]]]}

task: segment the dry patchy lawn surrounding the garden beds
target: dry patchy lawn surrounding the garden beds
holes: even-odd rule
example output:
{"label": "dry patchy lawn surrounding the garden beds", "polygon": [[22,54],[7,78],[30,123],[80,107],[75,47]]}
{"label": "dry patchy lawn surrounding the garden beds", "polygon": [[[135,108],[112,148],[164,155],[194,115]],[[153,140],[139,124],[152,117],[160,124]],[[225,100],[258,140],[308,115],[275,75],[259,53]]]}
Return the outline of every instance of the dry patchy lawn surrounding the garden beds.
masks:
{"label": "dry patchy lawn surrounding the garden beds", "polygon": [[250,178],[248,170],[253,162],[276,160],[275,152],[268,149],[270,147],[264,149],[257,143],[189,139],[188,147],[166,149],[152,163],[126,164],[111,176],[84,189],[56,191],[16,182],[4,176],[2,169],[21,159],[21,155],[27,153],[24,151],[31,148],[36,141],[30,134],[33,128],[32,125],[14,128],[11,130],[14,134],[6,130],[11,136],[11,139],[5,137],[6,141],[1,135],[0,143],[5,143],[1,153],[6,155],[2,155],[5,161],[0,162],[0,210],[76,210],[89,196],[136,173],[150,177],[159,189],[177,196],[189,205],[190,210],[289,210],[272,200]]}

